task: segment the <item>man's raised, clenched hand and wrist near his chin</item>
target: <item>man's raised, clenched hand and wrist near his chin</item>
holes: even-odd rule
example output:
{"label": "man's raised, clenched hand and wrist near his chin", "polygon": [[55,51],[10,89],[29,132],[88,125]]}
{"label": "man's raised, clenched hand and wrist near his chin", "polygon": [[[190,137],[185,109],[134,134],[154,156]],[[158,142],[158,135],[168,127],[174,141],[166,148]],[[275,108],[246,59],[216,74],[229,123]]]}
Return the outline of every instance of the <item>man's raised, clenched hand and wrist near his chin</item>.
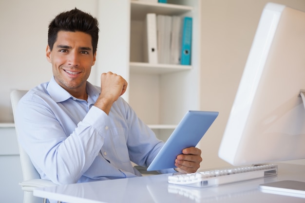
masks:
{"label": "man's raised, clenched hand and wrist near his chin", "polygon": [[126,92],[126,89],[127,82],[120,75],[112,72],[101,74],[101,93],[95,102],[95,106],[109,114],[113,103]]}

